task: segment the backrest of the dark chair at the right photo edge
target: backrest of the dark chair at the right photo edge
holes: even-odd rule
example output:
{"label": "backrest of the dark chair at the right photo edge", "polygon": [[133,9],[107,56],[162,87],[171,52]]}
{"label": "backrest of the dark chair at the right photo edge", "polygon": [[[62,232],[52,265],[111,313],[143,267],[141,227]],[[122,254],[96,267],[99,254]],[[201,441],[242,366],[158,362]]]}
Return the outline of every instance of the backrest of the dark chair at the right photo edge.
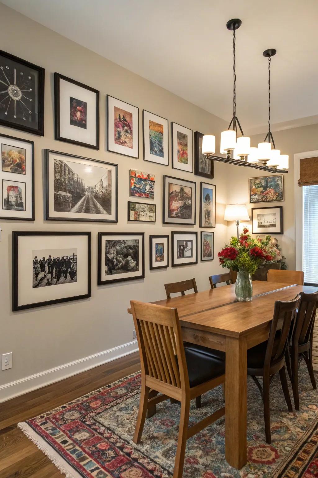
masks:
{"label": "backrest of the dark chair at the right photo edge", "polygon": [[312,336],[317,305],[318,291],[312,294],[301,292],[296,324],[292,336],[292,343],[295,345],[307,344]]}

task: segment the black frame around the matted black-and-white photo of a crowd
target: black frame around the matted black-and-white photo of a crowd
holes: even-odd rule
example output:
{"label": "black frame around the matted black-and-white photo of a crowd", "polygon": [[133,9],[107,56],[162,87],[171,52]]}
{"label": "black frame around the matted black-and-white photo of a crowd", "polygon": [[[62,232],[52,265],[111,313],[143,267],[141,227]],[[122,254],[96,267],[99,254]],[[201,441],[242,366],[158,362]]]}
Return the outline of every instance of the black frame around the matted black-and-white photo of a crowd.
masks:
{"label": "black frame around the matted black-and-white photo of a crowd", "polygon": [[[87,236],[87,293],[81,295],[74,295],[72,297],[63,297],[61,299],[54,299],[43,302],[36,302],[32,304],[19,304],[19,290],[18,290],[18,239],[20,236]],[[13,231],[12,232],[12,311],[16,312],[24,309],[31,309],[35,307],[42,307],[51,304],[60,304],[63,302],[70,302],[73,300],[86,299],[91,297],[91,232],[71,232],[71,231]]]}

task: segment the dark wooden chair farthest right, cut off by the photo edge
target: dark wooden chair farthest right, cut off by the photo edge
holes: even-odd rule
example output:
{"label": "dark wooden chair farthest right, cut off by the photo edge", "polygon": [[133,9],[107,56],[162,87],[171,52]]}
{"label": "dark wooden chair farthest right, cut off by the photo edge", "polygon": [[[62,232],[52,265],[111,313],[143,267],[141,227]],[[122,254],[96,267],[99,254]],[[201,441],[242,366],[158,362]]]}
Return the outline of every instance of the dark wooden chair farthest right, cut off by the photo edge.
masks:
{"label": "dark wooden chair farthest right, cut off by the photo edge", "polygon": [[299,410],[298,366],[302,358],[305,359],[312,388],[317,389],[312,367],[312,336],[318,305],[318,292],[312,294],[301,292],[299,295],[301,301],[285,356],[296,410]]}

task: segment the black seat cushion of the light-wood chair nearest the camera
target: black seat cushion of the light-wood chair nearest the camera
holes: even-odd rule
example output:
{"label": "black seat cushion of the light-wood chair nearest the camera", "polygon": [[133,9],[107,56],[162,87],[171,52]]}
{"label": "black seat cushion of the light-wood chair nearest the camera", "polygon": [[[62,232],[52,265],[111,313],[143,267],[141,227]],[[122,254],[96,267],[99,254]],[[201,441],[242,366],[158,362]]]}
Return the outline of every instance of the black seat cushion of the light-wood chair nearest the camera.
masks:
{"label": "black seat cushion of the light-wood chair nearest the camera", "polygon": [[195,387],[225,373],[225,361],[185,348],[190,387]]}

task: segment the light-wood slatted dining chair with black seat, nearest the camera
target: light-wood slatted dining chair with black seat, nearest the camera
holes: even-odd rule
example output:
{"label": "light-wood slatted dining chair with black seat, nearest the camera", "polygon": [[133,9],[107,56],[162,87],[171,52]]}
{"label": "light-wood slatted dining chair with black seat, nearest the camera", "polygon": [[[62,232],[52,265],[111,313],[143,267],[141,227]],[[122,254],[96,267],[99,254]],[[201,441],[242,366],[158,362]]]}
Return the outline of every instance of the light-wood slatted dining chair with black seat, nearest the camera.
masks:
{"label": "light-wood slatted dining chair with black seat, nearest the camera", "polygon": [[180,401],[173,478],[181,478],[187,439],[225,414],[223,407],[188,428],[190,401],[224,382],[225,364],[184,348],[177,309],[135,300],[130,304],[141,361],[141,394],[133,442],[140,442],[147,410],[169,397]]}

